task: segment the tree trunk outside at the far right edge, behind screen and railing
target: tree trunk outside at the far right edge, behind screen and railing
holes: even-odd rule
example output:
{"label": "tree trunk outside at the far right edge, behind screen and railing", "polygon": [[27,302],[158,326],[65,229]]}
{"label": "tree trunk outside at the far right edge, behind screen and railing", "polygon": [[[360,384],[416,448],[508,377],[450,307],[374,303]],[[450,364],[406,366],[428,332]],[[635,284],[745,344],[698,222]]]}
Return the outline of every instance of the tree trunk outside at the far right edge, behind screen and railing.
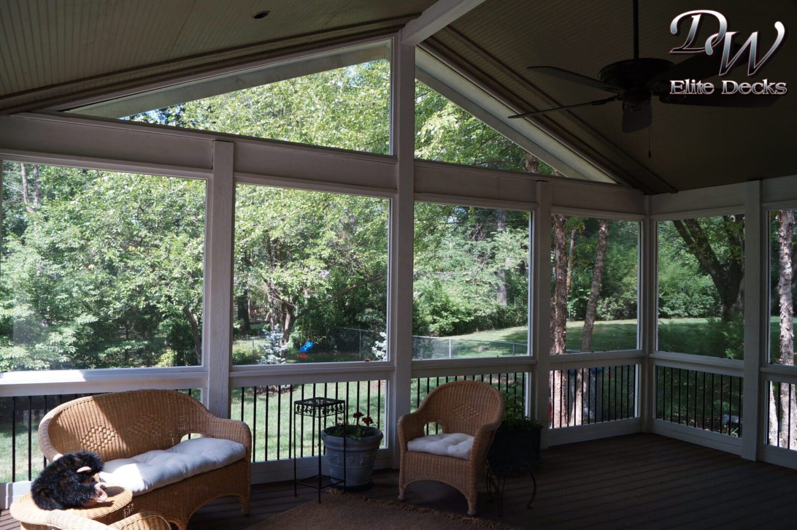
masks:
{"label": "tree trunk outside at the far right edge, behind screen and railing", "polygon": [[[794,270],[791,262],[791,239],[794,236],[795,216],[792,210],[778,212],[780,227],[778,230],[779,247],[779,277],[778,294],[780,300],[780,363],[794,366],[794,306],[791,299],[791,282],[794,280]],[[780,383],[780,446],[797,447],[797,405],[795,405],[795,392],[791,385]],[[774,409],[771,409],[774,410]],[[791,418],[790,418],[791,416]],[[791,426],[791,432],[789,427]]]}

